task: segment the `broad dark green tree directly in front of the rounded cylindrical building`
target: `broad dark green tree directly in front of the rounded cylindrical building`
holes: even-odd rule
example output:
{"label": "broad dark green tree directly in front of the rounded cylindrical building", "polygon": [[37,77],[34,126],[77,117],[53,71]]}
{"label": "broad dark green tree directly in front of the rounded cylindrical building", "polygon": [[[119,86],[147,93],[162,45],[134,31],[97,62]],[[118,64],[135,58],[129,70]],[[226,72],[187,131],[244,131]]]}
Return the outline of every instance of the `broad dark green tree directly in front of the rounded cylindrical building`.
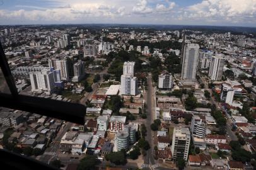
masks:
{"label": "broad dark green tree directly in front of the rounded cylindrical building", "polygon": [[107,159],[107,161],[110,161],[116,165],[126,164],[127,162],[125,150],[121,150],[119,152],[112,152],[110,154],[107,154],[105,158]]}

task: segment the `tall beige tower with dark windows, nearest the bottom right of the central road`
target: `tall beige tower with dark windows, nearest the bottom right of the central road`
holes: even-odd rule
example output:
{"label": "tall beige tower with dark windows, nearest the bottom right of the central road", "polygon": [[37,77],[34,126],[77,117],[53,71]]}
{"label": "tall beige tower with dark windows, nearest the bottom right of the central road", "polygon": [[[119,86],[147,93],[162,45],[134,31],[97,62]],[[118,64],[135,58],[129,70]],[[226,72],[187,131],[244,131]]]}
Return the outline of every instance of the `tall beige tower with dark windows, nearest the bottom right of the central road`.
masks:
{"label": "tall beige tower with dark windows, nearest the bottom right of the central road", "polygon": [[172,157],[182,157],[187,161],[189,155],[190,131],[187,127],[175,127],[172,139]]}

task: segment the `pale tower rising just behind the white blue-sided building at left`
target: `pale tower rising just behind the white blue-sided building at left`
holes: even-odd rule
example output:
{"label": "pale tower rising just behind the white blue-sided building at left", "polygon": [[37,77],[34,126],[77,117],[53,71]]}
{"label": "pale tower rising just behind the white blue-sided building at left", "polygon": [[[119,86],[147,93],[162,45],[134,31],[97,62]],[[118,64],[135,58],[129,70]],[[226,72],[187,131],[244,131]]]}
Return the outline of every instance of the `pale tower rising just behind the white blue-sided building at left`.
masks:
{"label": "pale tower rising just behind the white blue-sided building at left", "polygon": [[49,67],[61,71],[61,80],[69,80],[69,66],[67,60],[49,59]]}

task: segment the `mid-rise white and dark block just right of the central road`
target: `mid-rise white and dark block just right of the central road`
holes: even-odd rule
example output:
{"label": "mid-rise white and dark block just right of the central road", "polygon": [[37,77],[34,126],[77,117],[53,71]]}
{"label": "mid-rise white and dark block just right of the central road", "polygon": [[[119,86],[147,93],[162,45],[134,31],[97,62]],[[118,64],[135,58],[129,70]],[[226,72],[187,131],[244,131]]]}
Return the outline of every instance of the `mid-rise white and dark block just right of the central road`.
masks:
{"label": "mid-rise white and dark block just right of the central road", "polygon": [[158,76],[158,88],[159,89],[172,89],[173,81],[172,74],[163,72]]}

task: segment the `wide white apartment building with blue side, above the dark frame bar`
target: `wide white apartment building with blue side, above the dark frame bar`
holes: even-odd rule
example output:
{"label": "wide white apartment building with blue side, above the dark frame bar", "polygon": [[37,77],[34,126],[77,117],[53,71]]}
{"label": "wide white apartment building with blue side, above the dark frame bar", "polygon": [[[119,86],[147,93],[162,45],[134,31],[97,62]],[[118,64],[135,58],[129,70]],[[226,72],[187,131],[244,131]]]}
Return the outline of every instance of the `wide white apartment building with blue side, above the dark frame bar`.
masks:
{"label": "wide white apartment building with blue side, above the dark frame bar", "polygon": [[41,72],[30,74],[32,91],[47,91],[50,93],[54,89],[54,74],[47,69]]}

